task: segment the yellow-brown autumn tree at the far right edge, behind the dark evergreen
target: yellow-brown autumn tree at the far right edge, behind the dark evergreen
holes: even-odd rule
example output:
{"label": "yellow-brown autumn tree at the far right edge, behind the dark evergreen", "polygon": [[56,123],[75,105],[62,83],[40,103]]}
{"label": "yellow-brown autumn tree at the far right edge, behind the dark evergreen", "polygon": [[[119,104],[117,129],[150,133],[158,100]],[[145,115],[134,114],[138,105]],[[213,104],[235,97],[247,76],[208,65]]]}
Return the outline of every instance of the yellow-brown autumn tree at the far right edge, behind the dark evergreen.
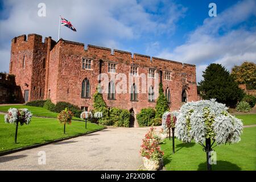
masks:
{"label": "yellow-brown autumn tree at the far right edge, behind the dark evergreen", "polygon": [[256,64],[245,61],[241,66],[234,66],[231,71],[238,84],[246,84],[246,89],[256,89]]}

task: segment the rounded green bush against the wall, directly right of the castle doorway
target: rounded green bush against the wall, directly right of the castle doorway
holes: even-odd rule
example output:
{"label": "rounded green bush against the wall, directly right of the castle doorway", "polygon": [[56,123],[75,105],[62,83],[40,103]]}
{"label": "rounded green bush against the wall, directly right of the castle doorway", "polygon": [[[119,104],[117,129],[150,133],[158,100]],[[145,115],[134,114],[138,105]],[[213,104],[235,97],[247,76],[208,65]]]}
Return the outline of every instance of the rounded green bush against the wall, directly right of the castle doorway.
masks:
{"label": "rounded green bush against the wall, directly right of the castle doorway", "polygon": [[136,118],[139,126],[150,126],[151,119],[155,118],[155,110],[152,108],[142,109]]}

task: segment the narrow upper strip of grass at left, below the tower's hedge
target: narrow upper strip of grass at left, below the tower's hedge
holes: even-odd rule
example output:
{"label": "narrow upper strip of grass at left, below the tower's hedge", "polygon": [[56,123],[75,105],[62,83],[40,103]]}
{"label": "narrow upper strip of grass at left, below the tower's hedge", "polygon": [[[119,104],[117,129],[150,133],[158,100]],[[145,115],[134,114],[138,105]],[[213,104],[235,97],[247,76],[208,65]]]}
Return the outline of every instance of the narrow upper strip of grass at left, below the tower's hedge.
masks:
{"label": "narrow upper strip of grass at left, below the tower's hedge", "polygon": [[[27,108],[31,111],[33,116],[47,117],[47,118],[57,118],[58,113],[51,112],[44,107],[26,106],[26,105],[10,105],[10,106],[0,106],[0,111],[7,113],[10,107],[15,107],[16,109]],[[73,117],[73,119],[81,120],[80,118]]]}

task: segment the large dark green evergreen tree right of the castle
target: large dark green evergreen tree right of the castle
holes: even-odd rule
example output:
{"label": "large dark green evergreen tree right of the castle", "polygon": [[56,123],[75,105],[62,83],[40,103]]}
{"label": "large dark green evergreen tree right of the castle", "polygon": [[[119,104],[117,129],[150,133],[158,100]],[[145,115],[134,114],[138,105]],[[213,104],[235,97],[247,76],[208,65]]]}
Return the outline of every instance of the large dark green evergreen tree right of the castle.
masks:
{"label": "large dark green evergreen tree right of the castle", "polygon": [[244,96],[243,90],[238,87],[234,78],[229,75],[221,64],[210,64],[203,72],[204,80],[199,83],[201,97],[205,100],[216,98],[230,107],[235,107],[237,101]]}

